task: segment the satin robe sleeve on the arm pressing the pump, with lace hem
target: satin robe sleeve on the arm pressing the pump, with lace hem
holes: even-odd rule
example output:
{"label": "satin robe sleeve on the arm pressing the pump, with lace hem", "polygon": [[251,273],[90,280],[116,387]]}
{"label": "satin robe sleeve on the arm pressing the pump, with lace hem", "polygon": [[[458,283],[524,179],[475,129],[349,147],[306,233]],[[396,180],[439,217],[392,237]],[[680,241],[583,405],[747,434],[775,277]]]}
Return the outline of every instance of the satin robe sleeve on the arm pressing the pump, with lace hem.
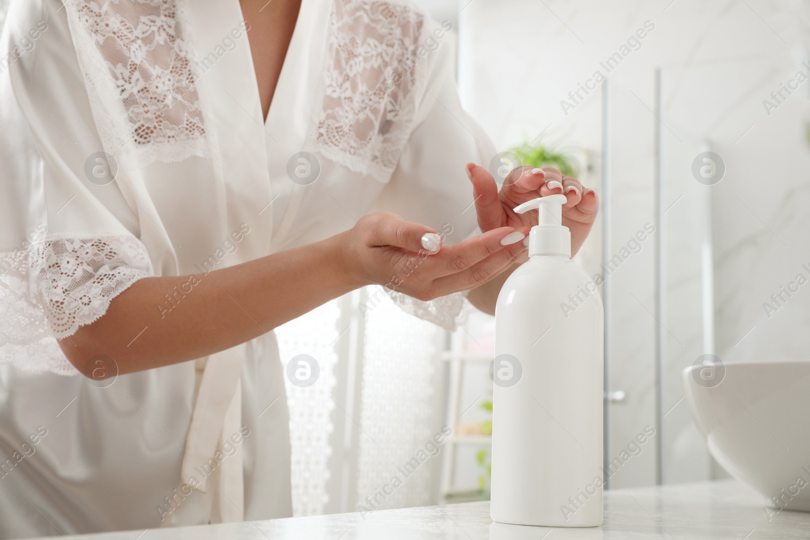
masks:
{"label": "satin robe sleeve on the arm pressing the pump, with lace hem", "polygon": [[[435,31],[438,25],[431,23],[431,31]],[[437,40],[437,49],[424,60],[431,65],[414,127],[390,181],[374,205],[374,210],[388,210],[408,221],[433,227],[446,235],[445,244],[480,234],[465,165],[475,162],[486,166],[496,154],[487,134],[462,108],[450,39],[445,35],[443,40]],[[446,330],[463,325],[467,291],[429,302],[387,288],[386,292],[406,313]]]}

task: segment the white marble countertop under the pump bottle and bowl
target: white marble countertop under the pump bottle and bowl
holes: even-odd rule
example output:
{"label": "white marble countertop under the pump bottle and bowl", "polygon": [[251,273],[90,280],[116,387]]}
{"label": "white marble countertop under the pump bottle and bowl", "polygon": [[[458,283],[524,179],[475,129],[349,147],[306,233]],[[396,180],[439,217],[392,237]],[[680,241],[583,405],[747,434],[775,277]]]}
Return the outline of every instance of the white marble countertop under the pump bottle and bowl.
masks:
{"label": "white marble countertop under the pump bottle and bowl", "polygon": [[610,490],[604,522],[590,529],[547,529],[493,523],[489,503],[449,504],[398,510],[245,521],[224,525],[148,529],[87,536],[93,540],[269,540],[276,538],[810,538],[810,512],[783,511],[769,521],[756,492],[734,481],[671,484]]}

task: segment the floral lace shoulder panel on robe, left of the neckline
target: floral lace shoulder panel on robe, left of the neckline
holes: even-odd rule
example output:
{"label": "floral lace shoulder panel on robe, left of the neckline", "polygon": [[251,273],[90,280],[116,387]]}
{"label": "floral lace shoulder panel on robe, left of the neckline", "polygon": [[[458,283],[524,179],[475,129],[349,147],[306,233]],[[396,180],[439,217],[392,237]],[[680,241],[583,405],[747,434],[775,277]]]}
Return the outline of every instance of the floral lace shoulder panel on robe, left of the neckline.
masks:
{"label": "floral lace shoulder panel on robe, left of the neckline", "polygon": [[184,2],[65,7],[104,150],[140,167],[210,155]]}

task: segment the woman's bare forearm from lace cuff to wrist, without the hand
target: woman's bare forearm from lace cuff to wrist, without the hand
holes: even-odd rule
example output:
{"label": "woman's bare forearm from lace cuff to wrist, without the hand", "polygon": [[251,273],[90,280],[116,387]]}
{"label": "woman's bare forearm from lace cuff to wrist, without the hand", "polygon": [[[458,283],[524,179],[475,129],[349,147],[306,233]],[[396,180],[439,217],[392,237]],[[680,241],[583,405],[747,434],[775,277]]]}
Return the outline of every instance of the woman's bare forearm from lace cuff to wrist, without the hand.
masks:
{"label": "woman's bare forearm from lace cuff to wrist, without the hand", "polygon": [[342,272],[339,242],[333,236],[208,274],[140,279],[59,344],[86,376],[96,355],[129,373],[234,347],[364,285]]}

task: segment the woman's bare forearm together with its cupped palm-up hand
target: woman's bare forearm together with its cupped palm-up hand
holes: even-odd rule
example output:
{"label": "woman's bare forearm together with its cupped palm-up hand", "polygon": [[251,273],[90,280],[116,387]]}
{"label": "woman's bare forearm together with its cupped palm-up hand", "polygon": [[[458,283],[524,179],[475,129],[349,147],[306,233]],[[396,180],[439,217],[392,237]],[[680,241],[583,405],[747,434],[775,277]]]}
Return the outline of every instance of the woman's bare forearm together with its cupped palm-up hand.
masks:
{"label": "woman's bare forearm together with its cupped palm-up hand", "polygon": [[518,232],[499,227],[440,247],[433,229],[375,212],[346,232],[283,253],[208,274],[140,279],[59,346],[86,376],[97,371],[99,355],[113,359],[119,373],[202,358],[364,285],[392,283],[429,299],[484,283],[525,250],[525,232]]}

